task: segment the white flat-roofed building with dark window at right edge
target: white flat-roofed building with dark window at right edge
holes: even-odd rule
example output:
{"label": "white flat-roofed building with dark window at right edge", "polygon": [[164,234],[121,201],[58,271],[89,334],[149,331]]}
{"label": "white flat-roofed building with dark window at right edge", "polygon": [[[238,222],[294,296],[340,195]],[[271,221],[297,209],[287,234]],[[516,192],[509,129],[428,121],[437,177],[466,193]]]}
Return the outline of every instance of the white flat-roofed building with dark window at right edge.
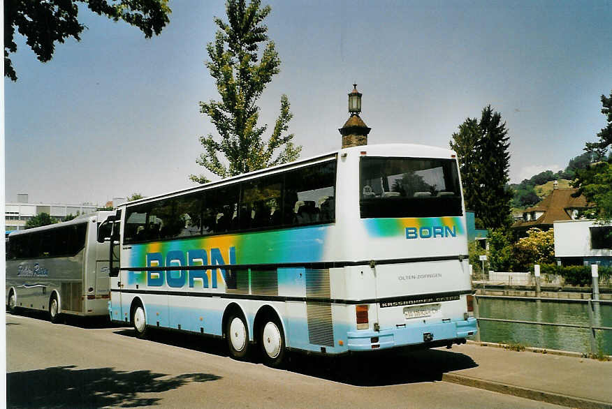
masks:
{"label": "white flat-roofed building with dark window at right edge", "polygon": [[612,225],[593,220],[555,221],[555,257],[562,265],[612,266]]}

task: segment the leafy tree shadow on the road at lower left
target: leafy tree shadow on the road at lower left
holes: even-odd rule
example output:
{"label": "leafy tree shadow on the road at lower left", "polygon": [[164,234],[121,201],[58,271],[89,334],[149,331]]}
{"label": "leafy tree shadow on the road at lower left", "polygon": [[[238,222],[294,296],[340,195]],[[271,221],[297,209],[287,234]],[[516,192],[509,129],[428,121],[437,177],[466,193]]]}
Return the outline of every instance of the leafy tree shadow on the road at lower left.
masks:
{"label": "leafy tree shadow on the road at lower left", "polygon": [[189,382],[221,379],[210,373],[186,373],[166,378],[151,371],[112,368],[73,369],[55,366],[6,374],[8,408],[101,408],[158,405],[160,398],[139,396],[166,392]]}

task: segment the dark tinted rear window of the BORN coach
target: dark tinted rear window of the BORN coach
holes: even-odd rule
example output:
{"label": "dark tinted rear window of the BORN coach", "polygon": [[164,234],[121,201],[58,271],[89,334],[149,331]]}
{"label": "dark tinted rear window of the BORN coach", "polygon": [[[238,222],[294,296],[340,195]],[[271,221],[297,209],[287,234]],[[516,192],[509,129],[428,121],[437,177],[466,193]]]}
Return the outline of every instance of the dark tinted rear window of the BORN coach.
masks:
{"label": "dark tinted rear window of the BORN coach", "polygon": [[454,159],[360,160],[361,218],[462,216]]}

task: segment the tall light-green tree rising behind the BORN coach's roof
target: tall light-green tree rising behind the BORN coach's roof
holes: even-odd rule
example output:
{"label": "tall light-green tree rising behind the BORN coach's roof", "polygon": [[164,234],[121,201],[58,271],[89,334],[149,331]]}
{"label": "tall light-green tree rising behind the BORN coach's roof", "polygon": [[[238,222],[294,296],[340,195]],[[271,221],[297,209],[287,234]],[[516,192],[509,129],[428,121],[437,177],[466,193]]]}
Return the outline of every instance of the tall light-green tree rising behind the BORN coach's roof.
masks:
{"label": "tall light-green tree rising behind the BORN coach's roof", "polygon": [[[201,102],[200,112],[210,117],[221,140],[218,142],[212,134],[201,136],[205,153],[196,163],[222,178],[294,161],[302,149],[291,142],[293,133],[287,133],[293,114],[286,95],[281,97],[280,114],[267,142],[262,135],[268,126],[257,125],[257,100],[272,76],[279,73],[280,66],[274,42],[265,43],[268,28],[262,22],[270,13],[270,6],[260,5],[260,0],[253,0],[248,6],[245,0],[228,0],[228,23],[214,19],[219,30],[206,48],[210,58],[206,66],[217,84],[221,101]],[[261,60],[260,43],[263,43]],[[209,180],[194,174],[189,179],[199,183]]]}

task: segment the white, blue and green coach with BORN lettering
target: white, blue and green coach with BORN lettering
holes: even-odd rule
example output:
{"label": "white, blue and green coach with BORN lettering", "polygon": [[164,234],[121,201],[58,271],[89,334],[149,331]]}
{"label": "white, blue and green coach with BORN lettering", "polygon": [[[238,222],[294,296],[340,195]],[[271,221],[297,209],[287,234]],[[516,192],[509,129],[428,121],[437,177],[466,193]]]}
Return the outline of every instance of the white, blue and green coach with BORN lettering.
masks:
{"label": "white, blue and green coach with BORN lettering", "polygon": [[460,186],[453,151],[381,144],[126,203],[111,319],[222,336],[237,359],[257,346],[272,366],[286,349],[463,343]]}

